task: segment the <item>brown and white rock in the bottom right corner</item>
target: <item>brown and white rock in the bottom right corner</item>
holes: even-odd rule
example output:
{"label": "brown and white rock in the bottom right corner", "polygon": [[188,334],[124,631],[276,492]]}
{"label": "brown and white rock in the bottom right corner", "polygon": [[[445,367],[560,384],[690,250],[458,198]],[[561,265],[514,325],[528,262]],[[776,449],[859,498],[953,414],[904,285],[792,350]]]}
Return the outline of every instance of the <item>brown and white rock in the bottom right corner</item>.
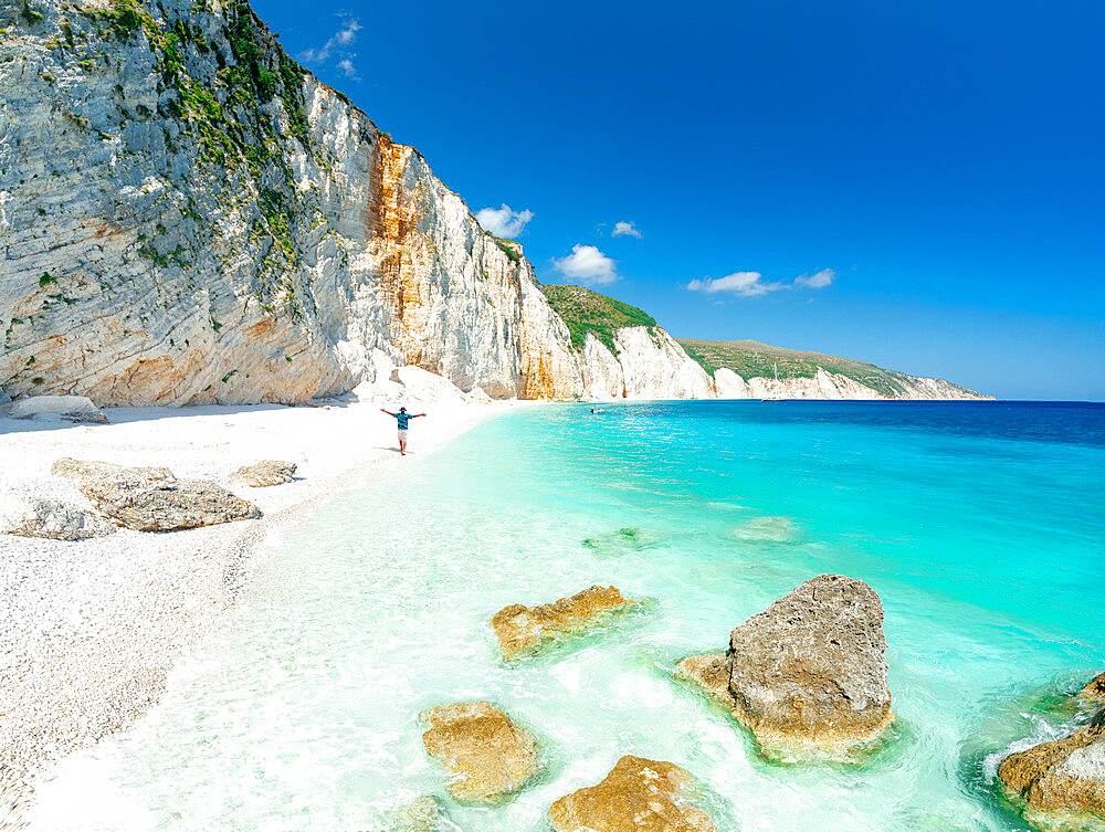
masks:
{"label": "brown and white rock in the bottom right corner", "polygon": [[998,778],[1029,812],[1088,814],[1105,825],[1105,710],[1063,739],[1009,755]]}

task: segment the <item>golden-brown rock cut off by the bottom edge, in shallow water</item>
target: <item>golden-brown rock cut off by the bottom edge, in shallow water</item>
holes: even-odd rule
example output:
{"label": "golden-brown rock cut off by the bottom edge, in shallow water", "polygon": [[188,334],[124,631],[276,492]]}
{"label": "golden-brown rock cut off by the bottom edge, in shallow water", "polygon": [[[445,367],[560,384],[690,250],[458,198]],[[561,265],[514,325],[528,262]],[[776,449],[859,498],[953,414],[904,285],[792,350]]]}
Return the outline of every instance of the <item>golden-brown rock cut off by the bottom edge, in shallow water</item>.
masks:
{"label": "golden-brown rock cut off by the bottom edge, in shallow water", "polygon": [[556,801],[549,823],[556,832],[714,832],[690,798],[697,787],[672,762],[627,755],[598,786]]}

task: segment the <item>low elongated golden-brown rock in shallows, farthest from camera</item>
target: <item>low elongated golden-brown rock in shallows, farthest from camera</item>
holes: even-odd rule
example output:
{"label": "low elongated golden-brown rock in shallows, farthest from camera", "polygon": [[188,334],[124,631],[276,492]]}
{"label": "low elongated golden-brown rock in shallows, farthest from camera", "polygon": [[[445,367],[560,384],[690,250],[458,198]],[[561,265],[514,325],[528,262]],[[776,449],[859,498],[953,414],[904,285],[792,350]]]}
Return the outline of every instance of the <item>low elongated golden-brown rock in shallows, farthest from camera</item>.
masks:
{"label": "low elongated golden-brown rock in shallows, farthest from camera", "polygon": [[593,586],[571,598],[552,603],[526,607],[514,603],[496,612],[491,626],[498,638],[503,655],[511,657],[537,650],[549,641],[576,633],[597,619],[638,604],[615,587]]}

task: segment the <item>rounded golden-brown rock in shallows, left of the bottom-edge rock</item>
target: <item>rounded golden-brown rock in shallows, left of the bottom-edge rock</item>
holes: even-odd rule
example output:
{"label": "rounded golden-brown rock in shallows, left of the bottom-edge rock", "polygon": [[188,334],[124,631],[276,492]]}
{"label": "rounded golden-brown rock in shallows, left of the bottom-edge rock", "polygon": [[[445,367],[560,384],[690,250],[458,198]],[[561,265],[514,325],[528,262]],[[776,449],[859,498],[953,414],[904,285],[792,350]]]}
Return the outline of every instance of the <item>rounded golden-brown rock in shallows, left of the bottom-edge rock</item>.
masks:
{"label": "rounded golden-brown rock in shallows, left of the bottom-edge rock", "polygon": [[487,702],[423,710],[425,752],[450,770],[457,800],[496,803],[525,786],[540,769],[533,737]]}

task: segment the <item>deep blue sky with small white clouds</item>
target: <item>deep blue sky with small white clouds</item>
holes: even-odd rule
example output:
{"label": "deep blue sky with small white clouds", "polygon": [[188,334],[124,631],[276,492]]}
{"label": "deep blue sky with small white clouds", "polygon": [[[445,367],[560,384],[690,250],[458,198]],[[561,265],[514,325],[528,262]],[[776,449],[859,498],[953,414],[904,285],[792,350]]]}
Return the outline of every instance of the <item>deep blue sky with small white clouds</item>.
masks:
{"label": "deep blue sky with small white clouds", "polygon": [[254,8],[543,282],[676,336],[1105,399],[1098,1]]}

